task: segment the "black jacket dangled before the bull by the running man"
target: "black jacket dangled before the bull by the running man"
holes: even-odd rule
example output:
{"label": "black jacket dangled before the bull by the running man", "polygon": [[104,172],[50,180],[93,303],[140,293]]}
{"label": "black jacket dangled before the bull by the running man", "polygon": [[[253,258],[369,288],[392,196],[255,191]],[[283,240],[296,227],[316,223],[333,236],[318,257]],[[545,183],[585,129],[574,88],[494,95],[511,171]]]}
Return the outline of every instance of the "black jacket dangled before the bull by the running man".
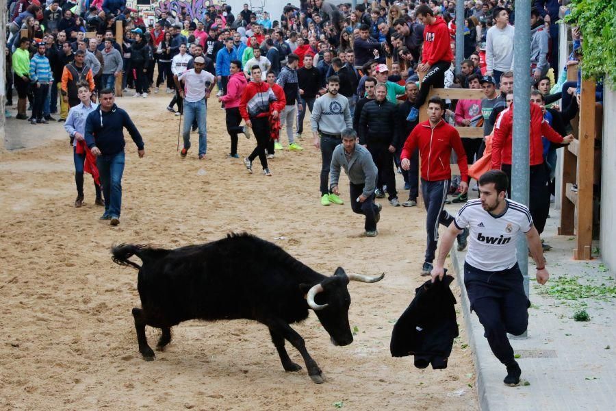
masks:
{"label": "black jacket dangled before the bull by the running man", "polygon": [[426,281],[415,290],[411,305],[394,325],[389,351],[393,357],[415,356],[415,366],[447,368],[453,340],[458,336],[456,299],[449,288],[453,277],[432,284]]}

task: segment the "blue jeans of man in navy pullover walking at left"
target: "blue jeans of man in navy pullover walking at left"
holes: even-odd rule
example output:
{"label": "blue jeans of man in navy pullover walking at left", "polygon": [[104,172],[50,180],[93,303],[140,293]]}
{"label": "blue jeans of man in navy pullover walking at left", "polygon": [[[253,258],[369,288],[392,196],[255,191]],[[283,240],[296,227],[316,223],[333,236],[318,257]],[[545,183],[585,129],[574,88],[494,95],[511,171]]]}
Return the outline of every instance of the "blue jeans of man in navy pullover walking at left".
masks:
{"label": "blue jeans of man in navy pullover walking at left", "polygon": [[122,174],[124,173],[124,151],[116,154],[103,154],[97,157],[97,167],[105,197],[105,214],[120,216],[122,206]]}

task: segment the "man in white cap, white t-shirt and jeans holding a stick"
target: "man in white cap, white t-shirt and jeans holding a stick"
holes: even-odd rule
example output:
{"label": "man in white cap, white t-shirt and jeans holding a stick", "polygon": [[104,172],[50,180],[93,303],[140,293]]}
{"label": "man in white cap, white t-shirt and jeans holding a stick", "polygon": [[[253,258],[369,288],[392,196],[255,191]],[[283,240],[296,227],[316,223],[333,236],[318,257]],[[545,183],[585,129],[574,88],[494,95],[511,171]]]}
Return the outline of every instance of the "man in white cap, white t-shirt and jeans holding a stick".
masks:
{"label": "man in white cap, white t-shirt and jeans holding a stick", "polygon": [[[184,147],[180,151],[181,158],[185,158],[188,149],[190,149],[190,127],[195,119],[199,129],[199,160],[205,159],[207,153],[207,104],[205,101],[209,97],[211,89],[214,88],[216,79],[214,75],[204,69],[205,58],[200,55],[194,58],[194,69],[173,75],[179,96],[183,99],[184,109],[184,128],[182,130]],[[183,89],[180,86],[182,81],[184,82]]]}

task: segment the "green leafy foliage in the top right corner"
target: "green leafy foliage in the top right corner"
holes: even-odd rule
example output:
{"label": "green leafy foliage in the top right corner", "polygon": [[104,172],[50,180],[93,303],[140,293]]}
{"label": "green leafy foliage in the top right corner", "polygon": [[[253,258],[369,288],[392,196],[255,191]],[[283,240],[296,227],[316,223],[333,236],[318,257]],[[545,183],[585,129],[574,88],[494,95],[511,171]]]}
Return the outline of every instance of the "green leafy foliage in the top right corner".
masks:
{"label": "green leafy foliage in the top right corner", "polygon": [[571,14],[565,22],[582,31],[582,75],[607,75],[616,87],[616,1],[572,0],[569,7]]}

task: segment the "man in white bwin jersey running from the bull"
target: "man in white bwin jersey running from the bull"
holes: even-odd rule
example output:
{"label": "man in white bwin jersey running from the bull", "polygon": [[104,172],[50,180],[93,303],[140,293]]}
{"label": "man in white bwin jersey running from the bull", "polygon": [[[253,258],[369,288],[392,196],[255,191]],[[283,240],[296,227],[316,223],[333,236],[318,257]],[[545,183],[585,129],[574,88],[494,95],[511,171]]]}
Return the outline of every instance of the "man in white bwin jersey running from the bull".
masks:
{"label": "man in white bwin jersey running from the bull", "polygon": [[517,236],[526,235],[537,263],[537,282],[546,284],[550,274],[530,211],[523,204],[506,199],[508,186],[509,180],[500,170],[479,177],[479,199],[468,201],[459,210],[443,236],[431,275],[433,282],[437,277],[443,279],[445,258],[456,236],[467,227],[470,235],[464,285],[471,310],[483,325],[492,352],[506,366],[504,384],[517,386],[522,371],[514,360],[507,333],[519,336],[526,331],[530,306],[516,260]]}

